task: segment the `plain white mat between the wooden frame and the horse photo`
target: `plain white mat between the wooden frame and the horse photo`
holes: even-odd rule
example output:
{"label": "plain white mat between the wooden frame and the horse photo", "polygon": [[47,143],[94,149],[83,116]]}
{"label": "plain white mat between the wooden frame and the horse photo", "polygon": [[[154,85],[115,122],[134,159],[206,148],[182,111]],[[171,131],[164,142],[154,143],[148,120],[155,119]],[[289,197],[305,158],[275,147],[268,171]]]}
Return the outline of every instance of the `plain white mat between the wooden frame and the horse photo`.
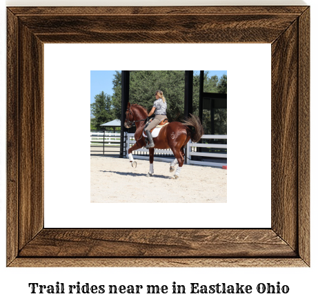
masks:
{"label": "plain white mat between the wooden frame and the horse photo", "polygon": [[[44,46],[45,226],[270,228],[270,44],[132,44],[125,56],[127,47]],[[227,204],[90,203],[90,70],[159,68],[228,71]]]}

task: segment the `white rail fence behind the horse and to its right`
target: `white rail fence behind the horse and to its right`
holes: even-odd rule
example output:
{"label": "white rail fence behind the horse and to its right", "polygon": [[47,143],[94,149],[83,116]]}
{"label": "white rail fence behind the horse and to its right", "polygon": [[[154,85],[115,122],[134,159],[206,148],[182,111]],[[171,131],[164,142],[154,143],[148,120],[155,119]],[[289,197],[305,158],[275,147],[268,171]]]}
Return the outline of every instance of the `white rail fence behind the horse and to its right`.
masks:
{"label": "white rail fence behind the horse and to its right", "polygon": [[[227,139],[227,135],[203,135],[202,139]],[[135,134],[128,134],[127,137],[127,153],[126,157],[128,157],[128,148],[130,148],[130,144],[135,144]],[[196,152],[192,151],[192,148],[196,150],[196,148],[228,148],[227,144],[201,144],[201,143],[193,143],[191,141],[188,142],[186,146],[186,156],[188,157],[187,159],[187,164],[195,164],[195,165],[204,165],[204,166],[227,166],[227,163],[219,163],[219,162],[202,162],[202,161],[196,161],[192,160],[191,156],[199,156],[199,157],[218,157],[218,158],[227,158],[227,154],[218,154],[218,153],[201,153],[201,152]],[[135,151],[141,152],[141,153],[149,153],[149,150],[146,148],[139,148]],[[172,150],[159,150],[155,148],[155,154],[169,154],[173,155]],[[136,159],[148,159],[148,157],[145,156],[139,156],[139,155],[134,155],[134,158]],[[163,162],[171,162],[173,160],[173,157],[155,157],[155,161],[163,161]]]}

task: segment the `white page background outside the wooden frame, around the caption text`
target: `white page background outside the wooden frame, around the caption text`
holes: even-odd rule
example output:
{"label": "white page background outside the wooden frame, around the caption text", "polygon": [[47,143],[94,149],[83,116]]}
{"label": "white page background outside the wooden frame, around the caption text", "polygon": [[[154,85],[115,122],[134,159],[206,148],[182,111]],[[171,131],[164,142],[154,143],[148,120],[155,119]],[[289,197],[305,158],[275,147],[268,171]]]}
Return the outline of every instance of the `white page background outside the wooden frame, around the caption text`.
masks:
{"label": "white page background outside the wooden frame, around the caption text", "polygon": [[[97,2],[101,1],[37,1],[35,5],[97,5]],[[236,5],[244,4],[244,2],[250,1],[231,1]],[[299,1],[297,1],[299,3]],[[318,7],[315,1],[306,1],[311,5],[311,64],[312,64],[312,77],[311,77],[311,99],[317,99],[317,56],[315,53],[317,50],[317,14]],[[8,5],[32,5],[34,1],[8,1]],[[108,1],[103,1],[103,5],[107,5]],[[117,5],[122,3],[117,1]],[[134,2],[139,4],[150,3],[150,1]],[[154,3],[154,2],[152,2]],[[178,1],[174,1],[178,3]],[[179,3],[181,3],[179,1]],[[190,5],[195,3],[196,5],[203,2],[191,2],[182,1],[182,5]],[[207,2],[206,2],[207,3]],[[213,4],[217,1],[209,1],[208,3]],[[228,3],[228,2],[227,2]],[[256,2],[257,3],[257,2]],[[266,2],[270,3],[270,2]],[[295,1],[275,1],[275,4],[279,3],[295,3]],[[254,1],[255,4],[255,1]],[[259,1],[259,4],[264,2]],[[3,20],[5,20],[4,3],[1,3],[1,174],[0,174],[0,185],[1,185],[1,203],[0,203],[0,216],[1,216],[1,282],[0,282],[0,295],[1,300],[12,300],[20,298],[21,300],[315,300],[317,298],[317,128],[318,121],[316,118],[317,114],[317,101],[311,101],[311,267],[308,269],[297,269],[297,268],[179,268],[179,269],[168,269],[168,268],[31,268],[31,269],[9,269],[6,268],[6,26]],[[254,291],[250,295],[31,295],[30,289],[28,288],[29,282],[39,282],[41,284],[54,284],[55,282],[64,282],[65,284],[75,284],[79,281],[82,284],[89,282],[90,284],[166,284],[168,287],[173,281],[177,284],[185,284],[188,287],[190,282],[199,282],[200,284],[215,284],[217,282],[226,282],[227,284],[250,284],[254,288]],[[290,293],[284,295],[260,295],[255,292],[255,286],[260,283],[270,282],[276,284],[279,281],[281,284],[287,284],[290,287]]]}

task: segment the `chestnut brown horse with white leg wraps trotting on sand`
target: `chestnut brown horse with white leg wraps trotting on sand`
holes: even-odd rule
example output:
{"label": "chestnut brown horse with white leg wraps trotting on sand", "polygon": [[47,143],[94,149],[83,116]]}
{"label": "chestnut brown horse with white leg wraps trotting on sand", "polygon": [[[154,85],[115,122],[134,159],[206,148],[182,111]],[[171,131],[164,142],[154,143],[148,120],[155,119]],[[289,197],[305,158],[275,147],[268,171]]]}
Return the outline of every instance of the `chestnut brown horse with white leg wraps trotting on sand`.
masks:
{"label": "chestnut brown horse with white leg wraps trotting on sand", "polygon": [[[139,104],[130,104],[128,102],[126,110],[126,119],[124,126],[130,128],[132,122],[136,124],[135,140],[136,143],[128,149],[128,156],[132,167],[137,166],[137,162],[134,162],[132,157],[132,151],[146,146],[145,137],[143,137],[143,128],[146,124],[146,119],[148,117],[148,112],[146,108],[139,106]],[[188,141],[191,139],[192,142],[199,142],[203,135],[203,126],[200,122],[199,117],[191,115],[191,117],[181,122],[170,122],[166,126],[161,128],[159,135],[153,138],[155,143],[155,148],[167,149],[170,148],[172,153],[175,155],[175,160],[170,163],[170,173],[175,170],[175,164],[179,164],[177,171],[174,175],[175,179],[179,177],[181,167],[184,162],[184,151],[183,148],[186,146]],[[147,177],[151,177],[154,173],[153,171],[153,161],[155,148],[149,148],[149,161],[150,161],[150,171]]]}

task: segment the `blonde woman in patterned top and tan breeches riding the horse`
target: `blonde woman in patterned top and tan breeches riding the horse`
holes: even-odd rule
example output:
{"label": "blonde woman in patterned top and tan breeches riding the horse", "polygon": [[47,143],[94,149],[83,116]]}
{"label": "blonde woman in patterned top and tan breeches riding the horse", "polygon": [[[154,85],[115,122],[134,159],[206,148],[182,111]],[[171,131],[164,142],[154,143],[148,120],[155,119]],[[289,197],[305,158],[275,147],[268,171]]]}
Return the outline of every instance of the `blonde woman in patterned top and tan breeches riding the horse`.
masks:
{"label": "blonde woman in patterned top and tan breeches riding the horse", "polygon": [[148,124],[146,127],[146,135],[148,137],[149,144],[146,145],[146,148],[152,148],[155,147],[155,144],[152,140],[152,135],[150,133],[150,130],[152,128],[155,128],[163,119],[166,119],[166,109],[167,109],[167,103],[166,98],[163,96],[163,93],[161,90],[157,90],[155,97],[157,100],[155,100],[152,109],[150,110],[150,113],[148,114],[148,117],[150,117],[153,113],[155,113],[155,119]]}

